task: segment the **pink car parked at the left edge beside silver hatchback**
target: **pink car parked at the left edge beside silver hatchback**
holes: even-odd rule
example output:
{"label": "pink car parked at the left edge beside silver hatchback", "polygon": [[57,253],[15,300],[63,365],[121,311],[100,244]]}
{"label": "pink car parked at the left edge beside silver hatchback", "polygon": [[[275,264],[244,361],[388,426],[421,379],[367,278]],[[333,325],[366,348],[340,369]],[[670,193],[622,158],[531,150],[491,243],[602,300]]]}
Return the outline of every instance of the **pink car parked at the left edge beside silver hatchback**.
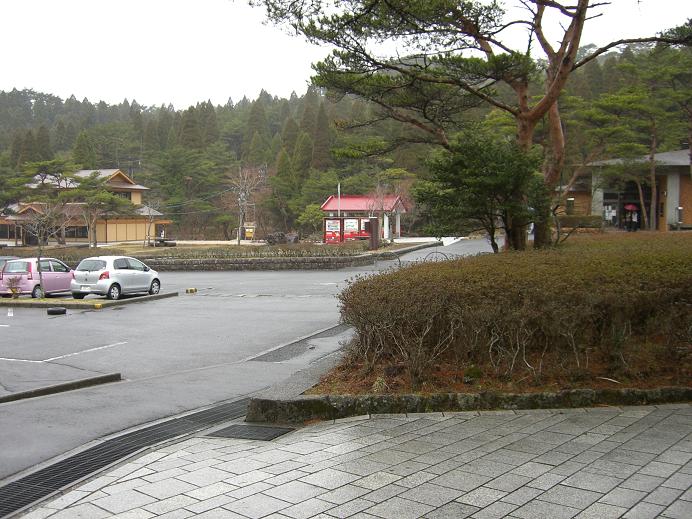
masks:
{"label": "pink car parked at the left edge beside silver hatchback", "polygon": [[5,263],[0,271],[0,295],[9,297],[14,292],[43,297],[46,294],[69,292],[74,271],[55,258],[41,258],[41,276],[36,258],[21,258]]}

